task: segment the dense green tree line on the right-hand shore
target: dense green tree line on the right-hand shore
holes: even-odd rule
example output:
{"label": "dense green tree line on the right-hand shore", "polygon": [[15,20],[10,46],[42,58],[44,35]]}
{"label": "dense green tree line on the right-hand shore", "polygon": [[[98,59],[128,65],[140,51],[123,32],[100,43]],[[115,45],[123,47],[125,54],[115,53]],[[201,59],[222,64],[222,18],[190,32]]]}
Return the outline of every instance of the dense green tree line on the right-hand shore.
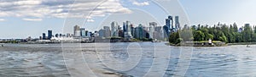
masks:
{"label": "dense green tree line on the right-hand shore", "polygon": [[249,24],[238,28],[236,23],[233,25],[185,25],[183,29],[172,32],[169,42],[178,44],[181,41],[223,41],[226,43],[236,42],[256,42],[256,26]]}

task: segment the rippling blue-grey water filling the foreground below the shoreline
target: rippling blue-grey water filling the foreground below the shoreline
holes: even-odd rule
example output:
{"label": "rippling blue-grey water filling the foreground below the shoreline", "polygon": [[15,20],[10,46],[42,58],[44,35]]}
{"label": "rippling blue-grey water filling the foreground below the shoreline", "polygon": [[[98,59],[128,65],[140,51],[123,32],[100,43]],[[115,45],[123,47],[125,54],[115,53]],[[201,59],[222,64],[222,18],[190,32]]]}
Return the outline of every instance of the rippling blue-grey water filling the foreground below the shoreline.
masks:
{"label": "rippling blue-grey water filling the foreground below the shoreline", "polygon": [[[0,76],[69,77],[77,70],[72,67],[81,64],[87,64],[96,76],[169,77],[178,72],[196,77],[256,76],[255,45],[193,47],[193,51],[186,51],[190,47],[169,47],[163,42],[77,45],[79,47],[73,47],[73,44],[5,44],[0,47]],[[62,50],[69,46],[71,50],[83,53],[81,63],[73,63],[77,60],[74,56],[64,56],[67,60],[64,61],[62,52],[65,51]],[[184,52],[192,52],[191,57],[181,59]],[[177,70],[181,67],[178,67],[179,63],[189,61],[189,65],[182,66],[189,66],[187,71]]]}

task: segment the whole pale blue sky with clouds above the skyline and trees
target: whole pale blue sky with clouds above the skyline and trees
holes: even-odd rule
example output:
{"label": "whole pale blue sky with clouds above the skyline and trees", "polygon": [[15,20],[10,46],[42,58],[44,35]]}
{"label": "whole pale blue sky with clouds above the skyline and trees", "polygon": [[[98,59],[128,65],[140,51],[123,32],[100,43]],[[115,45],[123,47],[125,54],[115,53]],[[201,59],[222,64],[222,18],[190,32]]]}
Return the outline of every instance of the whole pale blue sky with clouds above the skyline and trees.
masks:
{"label": "whole pale blue sky with clouds above the skyline and trees", "polygon": [[73,33],[73,26],[99,30],[112,21],[122,25],[165,25],[168,15],[182,25],[218,22],[256,25],[255,0],[1,0],[0,38],[38,38],[47,30]]}

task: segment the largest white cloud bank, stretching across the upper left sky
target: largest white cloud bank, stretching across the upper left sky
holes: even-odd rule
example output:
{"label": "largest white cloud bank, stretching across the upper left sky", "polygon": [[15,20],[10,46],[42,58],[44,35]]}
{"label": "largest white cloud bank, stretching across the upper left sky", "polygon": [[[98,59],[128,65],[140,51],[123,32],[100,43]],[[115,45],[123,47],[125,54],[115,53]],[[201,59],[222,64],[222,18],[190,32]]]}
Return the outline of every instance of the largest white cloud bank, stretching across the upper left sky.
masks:
{"label": "largest white cloud bank, stretching across the upper left sky", "polygon": [[[131,13],[130,9],[119,3],[119,0],[107,0],[95,8],[99,3],[102,3],[102,0],[1,0],[0,17],[91,19],[106,14]],[[90,16],[86,16],[88,14]]]}

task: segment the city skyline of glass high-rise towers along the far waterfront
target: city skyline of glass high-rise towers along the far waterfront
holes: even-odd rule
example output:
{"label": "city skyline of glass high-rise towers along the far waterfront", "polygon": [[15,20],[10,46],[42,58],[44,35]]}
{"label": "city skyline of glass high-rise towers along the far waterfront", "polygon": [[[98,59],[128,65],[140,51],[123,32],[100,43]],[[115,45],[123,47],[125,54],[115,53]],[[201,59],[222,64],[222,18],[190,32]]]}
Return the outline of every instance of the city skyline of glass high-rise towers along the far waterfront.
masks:
{"label": "city skyline of glass high-rise towers along the far waterfront", "polygon": [[[134,25],[129,20],[123,22],[123,25],[119,25],[118,22],[112,21],[109,26],[102,26],[100,30],[85,30],[86,28],[80,27],[79,25],[73,26],[73,34],[67,33],[56,33],[55,36],[52,36],[52,30],[48,30],[48,36],[45,36],[43,33],[42,36],[39,36],[39,40],[52,40],[61,38],[61,37],[81,37],[81,38],[91,38],[91,37],[122,37],[125,38],[125,41],[131,41],[135,38],[137,40],[142,40],[144,38],[154,39],[154,40],[164,40],[169,38],[168,36],[172,32],[176,32],[181,29],[179,23],[179,16],[169,15],[166,18],[166,25],[158,26],[156,22],[149,22],[148,25]],[[94,32],[93,32],[94,31]],[[92,36],[94,35],[94,36]],[[31,37],[29,37],[31,38]]]}

